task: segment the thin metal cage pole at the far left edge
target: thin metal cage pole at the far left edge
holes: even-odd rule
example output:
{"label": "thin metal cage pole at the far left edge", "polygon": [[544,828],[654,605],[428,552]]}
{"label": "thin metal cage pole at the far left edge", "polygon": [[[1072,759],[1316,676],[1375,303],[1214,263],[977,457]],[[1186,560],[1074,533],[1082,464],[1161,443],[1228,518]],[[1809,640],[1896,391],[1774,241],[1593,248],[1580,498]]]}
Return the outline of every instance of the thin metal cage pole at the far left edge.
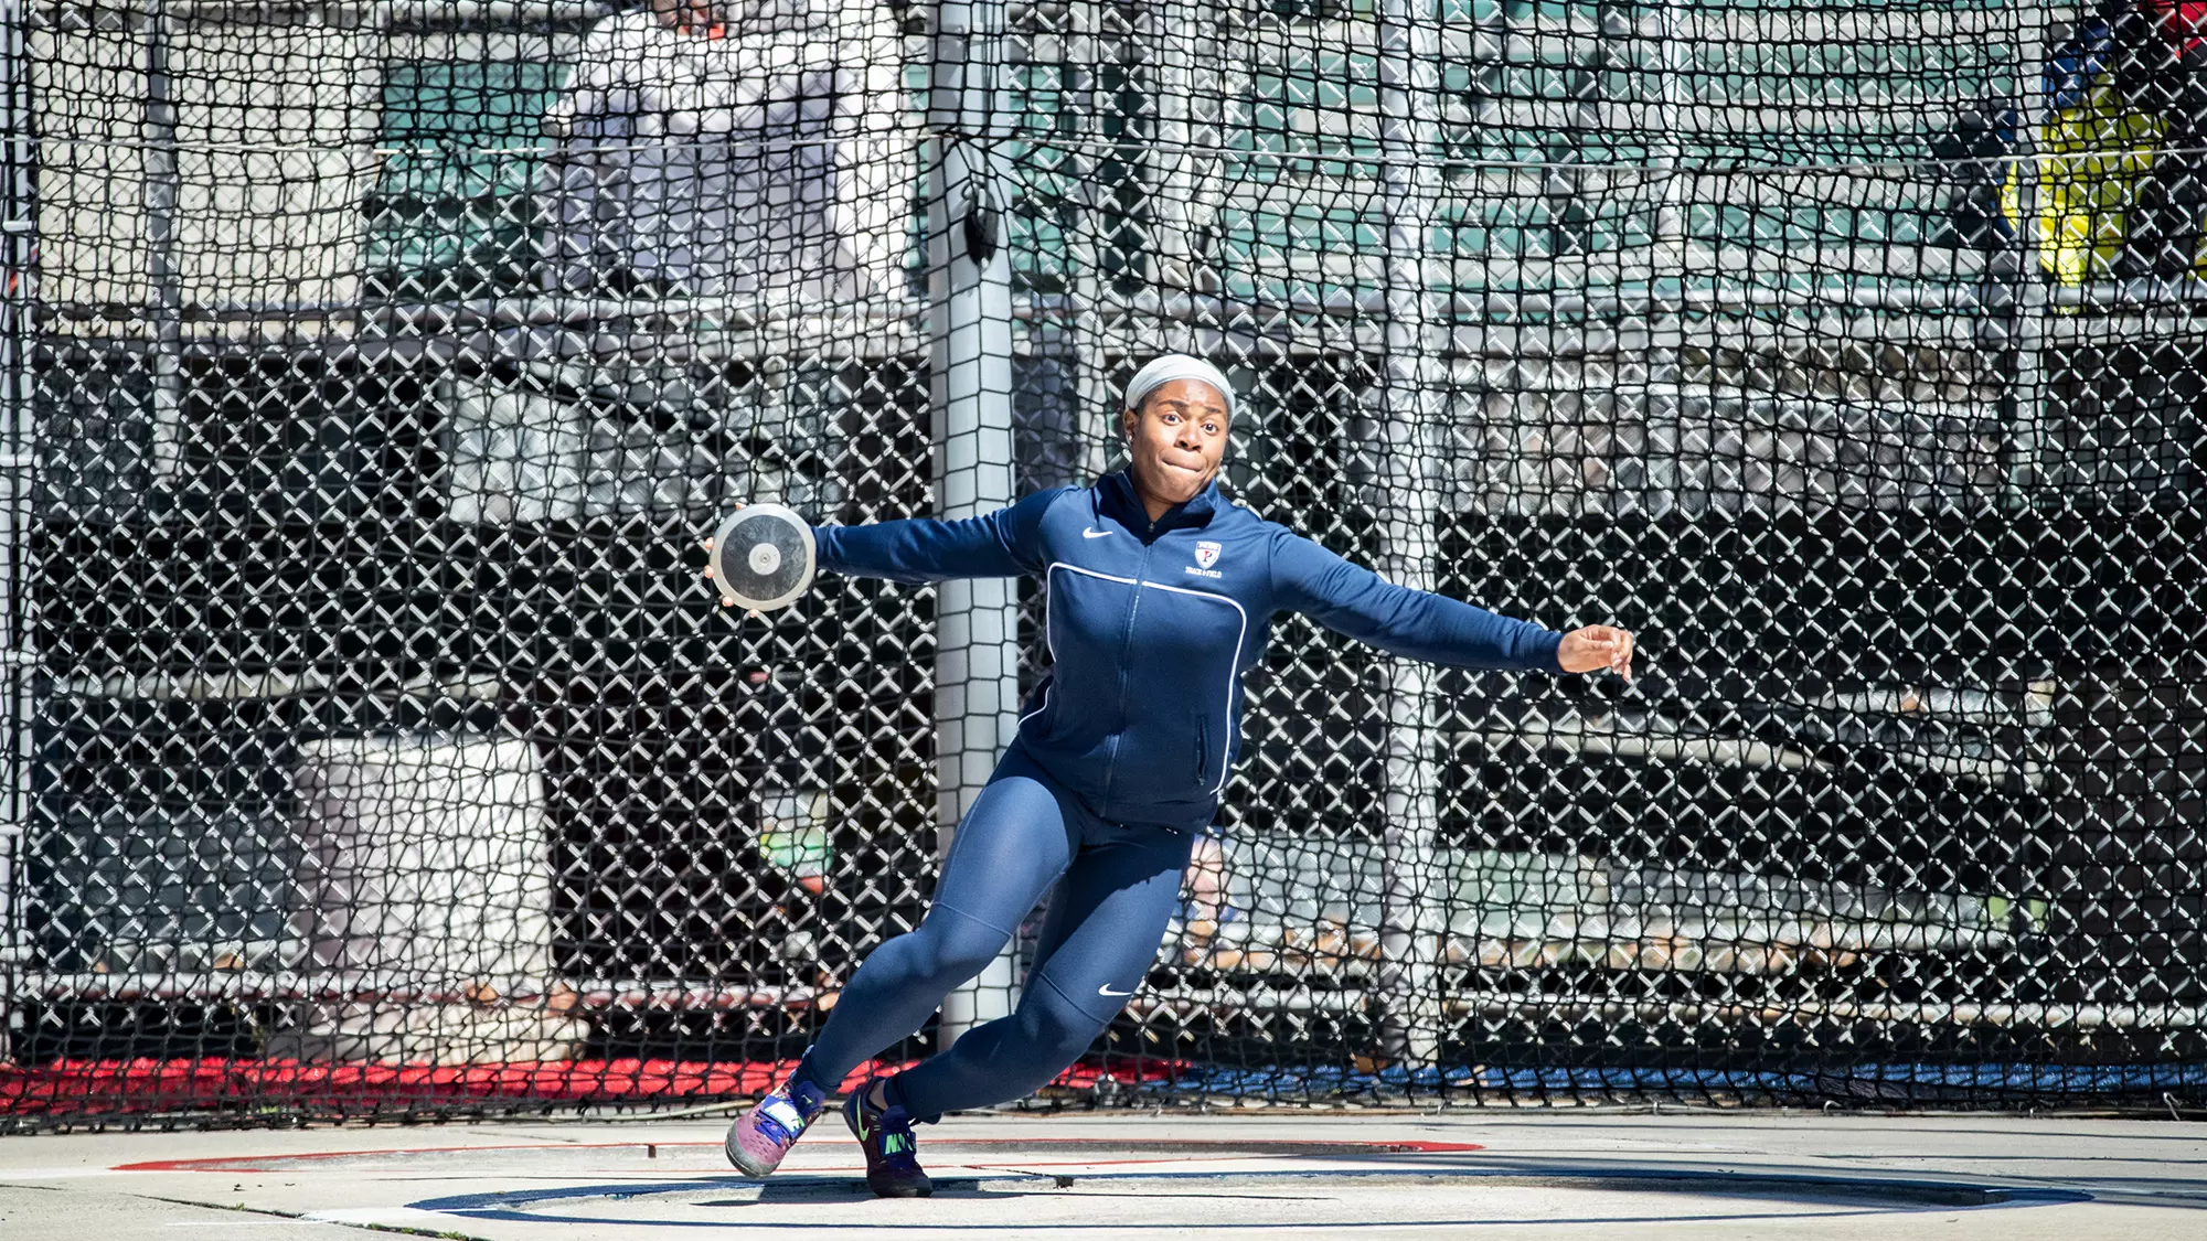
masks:
{"label": "thin metal cage pole at the far left edge", "polygon": [[0,1060],[20,1038],[18,978],[29,965],[18,890],[31,826],[31,296],[38,181],[31,135],[29,0],[0,0],[0,698],[7,700],[7,793],[0,797]]}

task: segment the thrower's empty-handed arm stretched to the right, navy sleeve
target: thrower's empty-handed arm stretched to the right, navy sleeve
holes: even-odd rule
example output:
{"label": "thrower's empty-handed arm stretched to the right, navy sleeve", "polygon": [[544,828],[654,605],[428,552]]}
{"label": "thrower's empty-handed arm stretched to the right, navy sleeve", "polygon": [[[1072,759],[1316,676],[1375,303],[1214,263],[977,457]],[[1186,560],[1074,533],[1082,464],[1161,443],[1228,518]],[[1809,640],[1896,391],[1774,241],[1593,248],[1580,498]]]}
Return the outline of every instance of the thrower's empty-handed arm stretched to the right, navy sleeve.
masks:
{"label": "thrower's empty-handed arm stretched to the right, navy sleeve", "polygon": [[1326,629],[1395,656],[1448,667],[1631,676],[1631,634],[1589,625],[1558,634],[1454,598],[1395,585],[1298,534],[1271,548],[1278,601]]}

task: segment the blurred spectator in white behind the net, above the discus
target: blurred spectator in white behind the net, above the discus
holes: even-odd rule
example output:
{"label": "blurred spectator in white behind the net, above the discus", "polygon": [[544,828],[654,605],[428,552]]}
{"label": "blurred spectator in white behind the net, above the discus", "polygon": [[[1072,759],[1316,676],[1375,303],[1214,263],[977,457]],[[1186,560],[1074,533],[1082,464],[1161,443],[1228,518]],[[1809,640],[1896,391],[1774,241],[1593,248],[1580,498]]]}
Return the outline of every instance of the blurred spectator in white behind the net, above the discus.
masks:
{"label": "blurred spectator in white behind the net, above the discus", "polygon": [[911,126],[874,0],[651,0],[543,117],[550,291],[898,296]]}

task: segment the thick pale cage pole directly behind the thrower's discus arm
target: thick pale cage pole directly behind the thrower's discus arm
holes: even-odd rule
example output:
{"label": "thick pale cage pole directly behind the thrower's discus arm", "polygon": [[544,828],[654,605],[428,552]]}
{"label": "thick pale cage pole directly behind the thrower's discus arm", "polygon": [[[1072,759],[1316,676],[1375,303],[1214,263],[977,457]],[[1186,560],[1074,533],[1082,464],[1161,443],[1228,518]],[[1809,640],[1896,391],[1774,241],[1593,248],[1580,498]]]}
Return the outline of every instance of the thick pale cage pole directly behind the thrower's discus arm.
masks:
{"label": "thick pale cage pole directly behind the thrower's discus arm", "polygon": [[[1013,499],[1009,137],[1000,97],[1002,0],[942,0],[927,91],[927,325],[936,515],[980,517]],[[949,857],[995,760],[1020,726],[1020,594],[1011,579],[936,587],[936,826]],[[1006,1016],[1015,945],[942,1000],[938,1047]]]}

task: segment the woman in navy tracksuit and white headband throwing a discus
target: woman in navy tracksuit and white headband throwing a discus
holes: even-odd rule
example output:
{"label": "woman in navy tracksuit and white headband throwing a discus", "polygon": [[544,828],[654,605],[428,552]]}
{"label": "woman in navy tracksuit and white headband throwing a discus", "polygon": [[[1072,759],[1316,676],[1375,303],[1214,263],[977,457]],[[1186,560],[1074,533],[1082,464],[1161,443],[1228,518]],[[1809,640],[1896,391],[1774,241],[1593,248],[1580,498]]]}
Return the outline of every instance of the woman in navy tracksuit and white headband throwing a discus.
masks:
{"label": "woman in navy tracksuit and white headband throwing a discus", "polygon": [[1156,956],[1240,749],[1240,678],[1276,614],[1437,665],[1631,676],[1624,629],[1558,634],[1390,585],[1220,497],[1234,389],[1209,362],[1150,362],[1123,409],[1130,466],[1090,488],[969,521],[812,532],[825,572],[1042,579],[1053,669],[958,824],[918,930],[865,958],[788,1082],[731,1126],[728,1159],[746,1175],[772,1173],[843,1078],[920,1029],[1053,885],[1017,1011],[843,1104],[867,1184],[881,1197],[931,1192],[914,1122],[1017,1100],[1088,1049]]}

